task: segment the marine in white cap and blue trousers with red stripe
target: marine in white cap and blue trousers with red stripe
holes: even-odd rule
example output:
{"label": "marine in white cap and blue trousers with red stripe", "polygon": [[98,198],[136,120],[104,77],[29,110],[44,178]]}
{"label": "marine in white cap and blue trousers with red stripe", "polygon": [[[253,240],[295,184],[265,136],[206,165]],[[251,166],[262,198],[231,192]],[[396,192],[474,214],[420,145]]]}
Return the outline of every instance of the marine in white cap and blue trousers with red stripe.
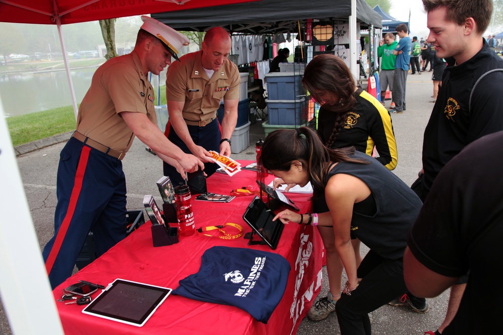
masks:
{"label": "marine in white cap and blue trousers with red stripe", "polygon": [[148,72],[159,74],[189,40],[143,16],[134,50],[114,57],[93,75],[80,103],[76,131],[61,151],[54,237],[43,251],[54,289],[72,271],[90,229],[97,255],[126,236],[126,180],[122,159],[137,136],[185,176],[203,167],[199,159],[167,140],[156,126]]}

